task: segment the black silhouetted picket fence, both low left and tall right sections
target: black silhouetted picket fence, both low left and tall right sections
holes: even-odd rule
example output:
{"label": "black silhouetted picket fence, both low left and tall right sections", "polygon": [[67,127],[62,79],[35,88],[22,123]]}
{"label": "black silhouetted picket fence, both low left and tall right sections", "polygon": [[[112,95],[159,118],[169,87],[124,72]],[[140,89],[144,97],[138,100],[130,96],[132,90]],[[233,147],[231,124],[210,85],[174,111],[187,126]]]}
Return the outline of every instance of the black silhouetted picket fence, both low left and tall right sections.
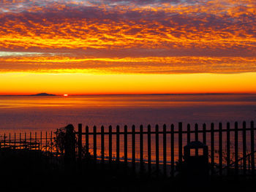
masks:
{"label": "black silhouetted picket fence, both low left and tall right sections", "polygon": [[[193,127],[192,127],[193,126]],[[175,177],[184,163],[184,146],[199,141],[208,146],[211,175],[255,176],[255,126],[243,122],[211,123],[201,126],[178,123],[178,126],[101,126],[89,128],[78,124],[75,131],[75,155],[94,163],[123,164],[135,172],[161,173]],[[56,132],[0,134],[0,149],[39,150],[46,157],[59,161],[65,151],[56,147]],[[190,155],[200,155],[197,150]],[[61,160],[61,162],[63,162]]]}

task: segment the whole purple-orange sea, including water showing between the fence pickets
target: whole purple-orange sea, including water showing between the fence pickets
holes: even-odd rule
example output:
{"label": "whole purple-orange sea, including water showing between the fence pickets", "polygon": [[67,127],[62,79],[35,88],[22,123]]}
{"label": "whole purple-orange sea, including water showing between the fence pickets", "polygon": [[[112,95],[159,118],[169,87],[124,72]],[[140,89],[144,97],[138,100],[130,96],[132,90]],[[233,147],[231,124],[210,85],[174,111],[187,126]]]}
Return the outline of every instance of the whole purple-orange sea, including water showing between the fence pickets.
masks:
{"label": "whole purple-orange sea, including water showing between the fence pickets", "polygon": [[[203,123],[206,123],[206,129],[210,129],[210,123],[230,122],[233,128],[237,121],[239,128],[243,121],[248,123],[256,120],[256,94],[194,94],[194,95],[119,95],[119,96],[0,96],[0,139],[6,136],[9,139],[24,138],[43,138],[42,142],[47,143],[52,139],[56,128],[62,128],[72,123],[78,130],[78,123],[89,126],[92,131],[93,126],[105,126],[108,132],[108,126],[120,126],[120,131],[124,131],[124,125],[131,131],[132,125],[138,131],[140,125],[145,130],[148,124],[151,124],[151,130],[159,125],[159,131],[162,131],[163,124],[167,125],[167,131],[170,131],[170,125],[173,123],[175,129],[178,128],[178,122],[184,123],[184,129],[187,123],[191,123],[193,130],[195,123],[198,123],[199,130]],[[52,131],[52,132],[51,132]],[[22,134],[18,134],[22,133]],[[16,136],[15,136],[16,134]],[[247,132],[246,138],[250,138]],[[26,137],[27,136],[27,137]],[[124,155],[124,135],[120,137],[120,155]],[[206,145],[210,146],[210,134],[206,135]],[[218,134],[215,134],[215,150],[218,150]],[[233,153],[233,137],[230,134],[231,152]],[[242,134],[239,131],[239,154],[242,152]],[[143,136],[144,158],[147,154],[147,135]],[[85,138],[83,137],[83,140]],[[100,157],[101,136],[97,135],[97,155]],[[155,135],[151,136],[151,155],[152,162],[155,158]],[[178,135],[175,135],[175,160],[178,159]],[[195,135],[191,135],[191,140]],[[140,137],[135,137],[136,159],[140,157]],[[202,141],[202,134],[199,134],[199,140]],[[50,140],[52,142],[52,140]],[[226,133],[223,133],[223,146],[226,142]],[[83,142],[84,143],[84,142]],[[250,140],[246,142],[250,146]],[[89,136],[89,152],[93,153],[93,137]],[[187,136],[184,134],[183,145],[187,144]],[[128,158],[132,158],[132,138],[128,135]],[[108,156],[108,135],[105,135],[105,155]],[[170,163],[170,134],[167,134],[167,162]],[[249,148],[248,148],[249,149]],[[224,149],[225,150],[225,147]],[[113,135],[113,155],[116,151],[116,135]],[[163,159],[162,134],[159,134],[159,160]],[[218,153],[216,153],[218,155]],[[218,156],[216,156],[218,161]],[[224,162],[225,163],[225,162]]]}

